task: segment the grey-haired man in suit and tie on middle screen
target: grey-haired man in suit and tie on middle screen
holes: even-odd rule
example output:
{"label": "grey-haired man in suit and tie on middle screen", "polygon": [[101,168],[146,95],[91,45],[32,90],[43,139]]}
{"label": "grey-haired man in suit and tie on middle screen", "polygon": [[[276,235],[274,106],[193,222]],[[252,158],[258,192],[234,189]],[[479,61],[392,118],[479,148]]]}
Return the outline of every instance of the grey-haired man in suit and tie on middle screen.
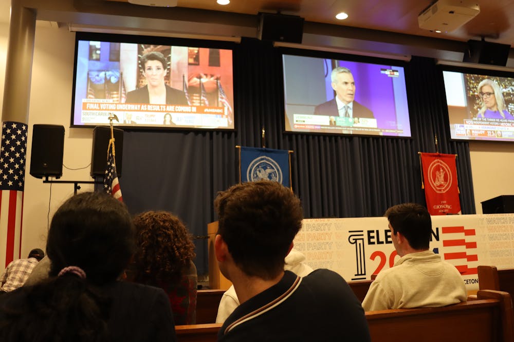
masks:
{"label": "grey-haired man in suit and tie on middle screen", "polygon": [[336,97],[316,106],[314,115],[375,118],[369,108],[354,100],[355,81],[350,69],[335,68],[332,70],[331,80]]}

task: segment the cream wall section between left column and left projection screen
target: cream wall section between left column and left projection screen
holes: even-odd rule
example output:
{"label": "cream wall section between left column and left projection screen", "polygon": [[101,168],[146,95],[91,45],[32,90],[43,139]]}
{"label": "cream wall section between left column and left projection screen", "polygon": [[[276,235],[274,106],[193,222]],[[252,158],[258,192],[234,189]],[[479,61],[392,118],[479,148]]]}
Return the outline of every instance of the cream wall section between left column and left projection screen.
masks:
{"label": "cream wall section between left column and left projection screen", "polygon": [[[48,222],[60,204],[74,192],[73,184],[44,184],[29,174],[34,124],[63,125],[65,128],[63,176],[59,180],[93,180],[89,176],[92,129],[69,128],[75,33],[66,27],[36,26],[30,89],[27,168],[23,208],[22,257],[32,248],[45,249]],[[4,76],[4,75],[3,75]],[[92,190],[81,185],[81,191]]]}

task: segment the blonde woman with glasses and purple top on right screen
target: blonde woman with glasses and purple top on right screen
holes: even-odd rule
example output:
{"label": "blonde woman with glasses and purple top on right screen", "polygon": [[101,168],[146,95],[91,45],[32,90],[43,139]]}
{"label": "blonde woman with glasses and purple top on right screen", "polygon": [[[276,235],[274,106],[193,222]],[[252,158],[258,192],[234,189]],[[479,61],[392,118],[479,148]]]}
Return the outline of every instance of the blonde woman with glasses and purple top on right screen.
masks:
{"label": "blonde woman with glasses and purple top on right screen", "polygon": [[486,78],[480,82],[478,89],[482,99],[482,108],[476,117],[514,120],[514,116],[507,111],[505,99],[498,83]]}

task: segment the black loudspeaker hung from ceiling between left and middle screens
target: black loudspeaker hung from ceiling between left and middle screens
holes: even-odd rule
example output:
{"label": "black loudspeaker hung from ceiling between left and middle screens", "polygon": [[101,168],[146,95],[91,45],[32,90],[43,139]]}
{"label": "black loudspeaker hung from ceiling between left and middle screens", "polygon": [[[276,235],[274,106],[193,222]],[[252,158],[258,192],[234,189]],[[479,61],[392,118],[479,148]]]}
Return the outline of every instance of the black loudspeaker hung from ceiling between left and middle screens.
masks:
{"label": "black loudspeaker hung from ceiling between left and middle screens", "polygon": [[259,39],[302,43],[304,18],[296,15],[261,13]]}

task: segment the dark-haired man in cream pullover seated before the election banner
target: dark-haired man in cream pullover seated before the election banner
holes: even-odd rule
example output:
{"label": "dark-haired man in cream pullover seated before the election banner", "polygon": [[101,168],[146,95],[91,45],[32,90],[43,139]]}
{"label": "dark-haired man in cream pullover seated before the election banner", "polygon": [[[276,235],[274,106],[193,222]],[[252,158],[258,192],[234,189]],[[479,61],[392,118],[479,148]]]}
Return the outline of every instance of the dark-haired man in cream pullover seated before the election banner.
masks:
{"label": "dark-haired man in cream pullover seated before the election banner", "polygon": [[465,301],[461,274],[429,250],[432,220],[428,210],[406,203],[389,208],[384,216],[400,259],[378,273],[362,301],[364,310],[442,307]]}

